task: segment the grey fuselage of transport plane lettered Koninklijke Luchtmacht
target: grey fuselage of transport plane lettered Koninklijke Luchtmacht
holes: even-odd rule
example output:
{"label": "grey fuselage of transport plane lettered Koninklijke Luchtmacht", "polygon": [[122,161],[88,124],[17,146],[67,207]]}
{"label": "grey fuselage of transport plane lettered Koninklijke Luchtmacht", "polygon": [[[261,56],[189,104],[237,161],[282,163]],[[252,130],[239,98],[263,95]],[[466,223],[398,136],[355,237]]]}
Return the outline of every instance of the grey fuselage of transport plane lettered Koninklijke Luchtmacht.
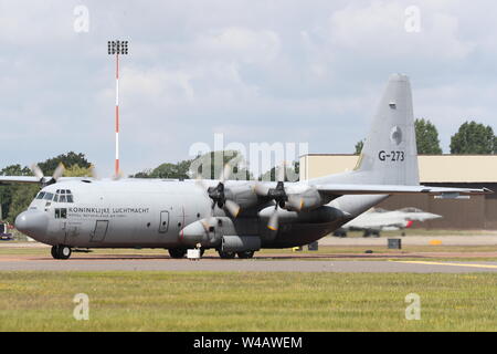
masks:
{"label": "grey fuselage of transport plane lettered Koninklijke Luchtmacht", "polygon": [[[61,191],[71,192],[72,202],[55,201],[53,197],[52,200],[34,199],[18,217],[18,229],[43,243],[72,248],[191,248],[194,244],[183,239],[183,228],[212,214],[212,200],[192,181],[88,179],[57,183],[41,190],[45,196],[59,197]],[[361,210],[384,198],[347,197],[360,198]],[[268,204],[267,209],[273,208]],[[263,248],[302,246],[350,220],[341,217],[340,210],[332,206],[300,214],[281,210],[279,215],[281,228],[272,231],[266,227],[264,212],[244,210],[240,217],[230,218],[215,208],[214,216],[224,219],[225,223],[216,225],[218,240],[203,246],[218,248],[223,236],[260,237]],[[233,228],[226,227],[230,221],[234,232]]]}

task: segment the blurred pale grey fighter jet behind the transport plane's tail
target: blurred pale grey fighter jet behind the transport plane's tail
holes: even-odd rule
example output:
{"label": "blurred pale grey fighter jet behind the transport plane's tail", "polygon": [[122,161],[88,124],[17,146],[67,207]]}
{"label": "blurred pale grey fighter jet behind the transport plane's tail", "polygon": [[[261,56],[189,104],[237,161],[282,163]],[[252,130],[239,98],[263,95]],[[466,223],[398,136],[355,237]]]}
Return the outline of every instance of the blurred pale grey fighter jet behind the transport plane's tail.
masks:
{"label": "blurred pale grey fighter jet behind the transport plane's tail", "polygon": [[384,210],[372,208],[356,219],[345,223],[334,232],[334,236],[346,237],[347,231],[364,231],[364,237],[380,236],[380,231],[408,229],[414,221],[426,221],[442,218],[441,215],[426,212],[417,208]]}

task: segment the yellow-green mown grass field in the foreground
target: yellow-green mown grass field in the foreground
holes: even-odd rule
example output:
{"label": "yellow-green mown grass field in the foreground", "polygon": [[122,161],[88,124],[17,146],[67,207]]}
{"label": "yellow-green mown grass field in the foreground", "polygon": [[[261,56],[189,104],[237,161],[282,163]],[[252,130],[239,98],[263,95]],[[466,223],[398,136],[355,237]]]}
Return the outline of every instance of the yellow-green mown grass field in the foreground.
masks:
{"label": "yellow-green mown grass field in the foreground", "polygon": [[0,273],[0,331],[496,331],[496,309],[491,273]]}

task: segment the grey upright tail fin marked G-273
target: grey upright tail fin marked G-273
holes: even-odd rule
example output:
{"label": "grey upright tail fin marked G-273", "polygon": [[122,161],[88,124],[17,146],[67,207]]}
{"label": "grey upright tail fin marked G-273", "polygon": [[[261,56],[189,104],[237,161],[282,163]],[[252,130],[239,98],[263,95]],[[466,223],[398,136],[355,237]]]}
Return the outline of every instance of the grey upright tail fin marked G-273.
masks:
{"label": "grey upright tail fin marked G-273", "polygon": [[411,85],[406,75],[390,76],[352,176],[355,183],[361,184],[420,184]]}

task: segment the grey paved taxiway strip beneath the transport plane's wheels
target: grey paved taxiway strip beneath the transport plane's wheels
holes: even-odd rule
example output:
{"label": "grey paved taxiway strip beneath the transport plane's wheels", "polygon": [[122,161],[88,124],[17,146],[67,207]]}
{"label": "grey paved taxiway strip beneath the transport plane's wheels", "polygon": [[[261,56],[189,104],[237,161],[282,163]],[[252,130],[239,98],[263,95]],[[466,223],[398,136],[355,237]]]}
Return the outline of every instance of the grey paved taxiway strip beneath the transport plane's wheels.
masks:
{"label": "grey paved taxiway strip beneath the transport plane's wheels", "polygon": [[430,260],[306,260],[268,259],[198,261],[169,257],[81,257],[54,260],[50,257],[1,257],[0,271],[195,271],[195,272],[366,272],[366,273],[468,273],[497,272],[497,262]]}

